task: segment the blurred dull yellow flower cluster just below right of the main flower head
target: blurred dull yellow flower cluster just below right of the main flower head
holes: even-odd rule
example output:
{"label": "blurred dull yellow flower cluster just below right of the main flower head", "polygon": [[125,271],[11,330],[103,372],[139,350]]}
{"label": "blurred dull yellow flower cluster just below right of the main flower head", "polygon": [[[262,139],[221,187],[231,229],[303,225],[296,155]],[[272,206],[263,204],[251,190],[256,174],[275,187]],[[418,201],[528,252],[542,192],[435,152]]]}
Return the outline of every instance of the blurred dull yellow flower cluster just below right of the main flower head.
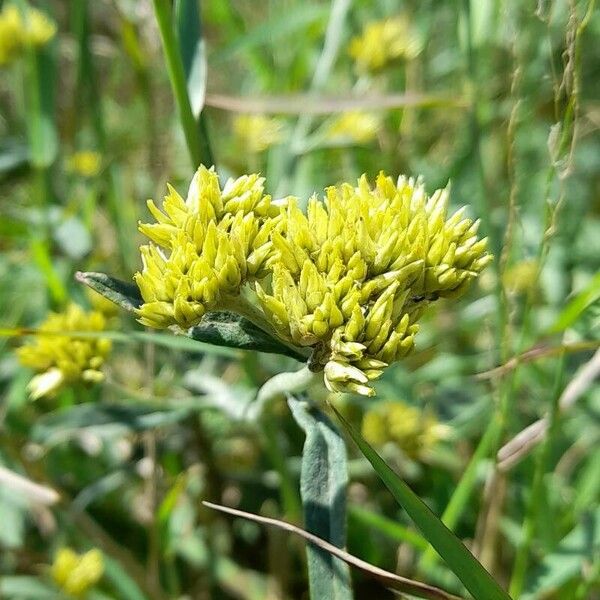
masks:
{"label": "blurred dull yellow flower cluster just below right of the main flower head", "polygon": [[411,458],[418,458],[446,437],[448,427],[435,415],[403,402],[380,402],[362,421],[362,435],[374,446],[396,444]]}

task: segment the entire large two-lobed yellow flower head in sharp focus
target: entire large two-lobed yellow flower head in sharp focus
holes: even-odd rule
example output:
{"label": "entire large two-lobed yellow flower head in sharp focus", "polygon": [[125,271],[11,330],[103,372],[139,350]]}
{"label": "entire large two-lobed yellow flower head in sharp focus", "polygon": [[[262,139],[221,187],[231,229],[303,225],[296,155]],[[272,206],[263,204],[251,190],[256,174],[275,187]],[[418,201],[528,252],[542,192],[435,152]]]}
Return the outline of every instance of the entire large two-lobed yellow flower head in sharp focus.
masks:
{"label": "entire large two-lobed yellow flower head in sharp focus", "polygon": [[170,189],[166,214],[149,207],[140,322],[177,330],[208,310],[248,314],[236,296],[255,281],[262,321],[311,347],[332,391],[373,395],[369,382],[413,348],[427,304],[460,295],[492,260],[478,222],[464,209],[448,218],[447,190],[428,197],[422,183],[383,173],[375,186],[363,176],[328,188],[304,214],[295,198],[272,202],[257,175],[221,190],[200,167],[185,202]]}

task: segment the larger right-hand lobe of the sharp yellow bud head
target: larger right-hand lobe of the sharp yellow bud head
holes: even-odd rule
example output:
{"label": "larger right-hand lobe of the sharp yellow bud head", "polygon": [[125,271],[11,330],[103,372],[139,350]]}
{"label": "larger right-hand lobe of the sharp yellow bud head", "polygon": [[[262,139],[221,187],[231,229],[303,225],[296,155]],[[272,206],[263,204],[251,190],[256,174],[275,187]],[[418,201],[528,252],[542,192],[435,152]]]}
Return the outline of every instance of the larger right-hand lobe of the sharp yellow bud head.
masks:
{"label": "larger right-hand lobe of the sharp yellow bud head", "polygon": [[374,187],[363,176],[328,188],[306,215],[288,201],[257,294],[281,337],[314,348],[329,390],[373,395],[369,381],[412,350],[425,306],[460,295],[492,259],[479,223],[447,208],[447,190],[428,197],[383,173]]}

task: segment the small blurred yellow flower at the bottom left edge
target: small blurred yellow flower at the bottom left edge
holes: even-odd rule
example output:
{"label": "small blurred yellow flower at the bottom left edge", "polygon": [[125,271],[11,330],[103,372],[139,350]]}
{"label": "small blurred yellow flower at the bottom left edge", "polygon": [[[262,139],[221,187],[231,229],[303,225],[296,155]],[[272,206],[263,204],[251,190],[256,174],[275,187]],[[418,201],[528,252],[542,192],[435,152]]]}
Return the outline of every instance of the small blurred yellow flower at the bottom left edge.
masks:
{"label": "small blurred yellow flower at the bottom left edge", "polygon": [[70,596],[82,596],[94,587],[104,574],[102,553],[96,548],[77,554],[71,548],[61,548],[50,569],[56,585]]}

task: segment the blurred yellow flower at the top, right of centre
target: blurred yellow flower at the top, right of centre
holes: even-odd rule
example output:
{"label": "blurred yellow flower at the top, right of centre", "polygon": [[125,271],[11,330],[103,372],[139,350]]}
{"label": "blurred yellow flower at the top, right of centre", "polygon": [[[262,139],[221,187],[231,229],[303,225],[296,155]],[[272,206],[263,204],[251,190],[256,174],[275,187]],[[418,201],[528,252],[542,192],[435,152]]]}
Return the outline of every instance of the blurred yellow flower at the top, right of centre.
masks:
{"label": "blurred yellow flower at the top, right of centre", "polygon": [[400,58],[414,58],[420,51],[421,40],[404,17],[368,23],[348,49],[360,73],[378,71]]}

